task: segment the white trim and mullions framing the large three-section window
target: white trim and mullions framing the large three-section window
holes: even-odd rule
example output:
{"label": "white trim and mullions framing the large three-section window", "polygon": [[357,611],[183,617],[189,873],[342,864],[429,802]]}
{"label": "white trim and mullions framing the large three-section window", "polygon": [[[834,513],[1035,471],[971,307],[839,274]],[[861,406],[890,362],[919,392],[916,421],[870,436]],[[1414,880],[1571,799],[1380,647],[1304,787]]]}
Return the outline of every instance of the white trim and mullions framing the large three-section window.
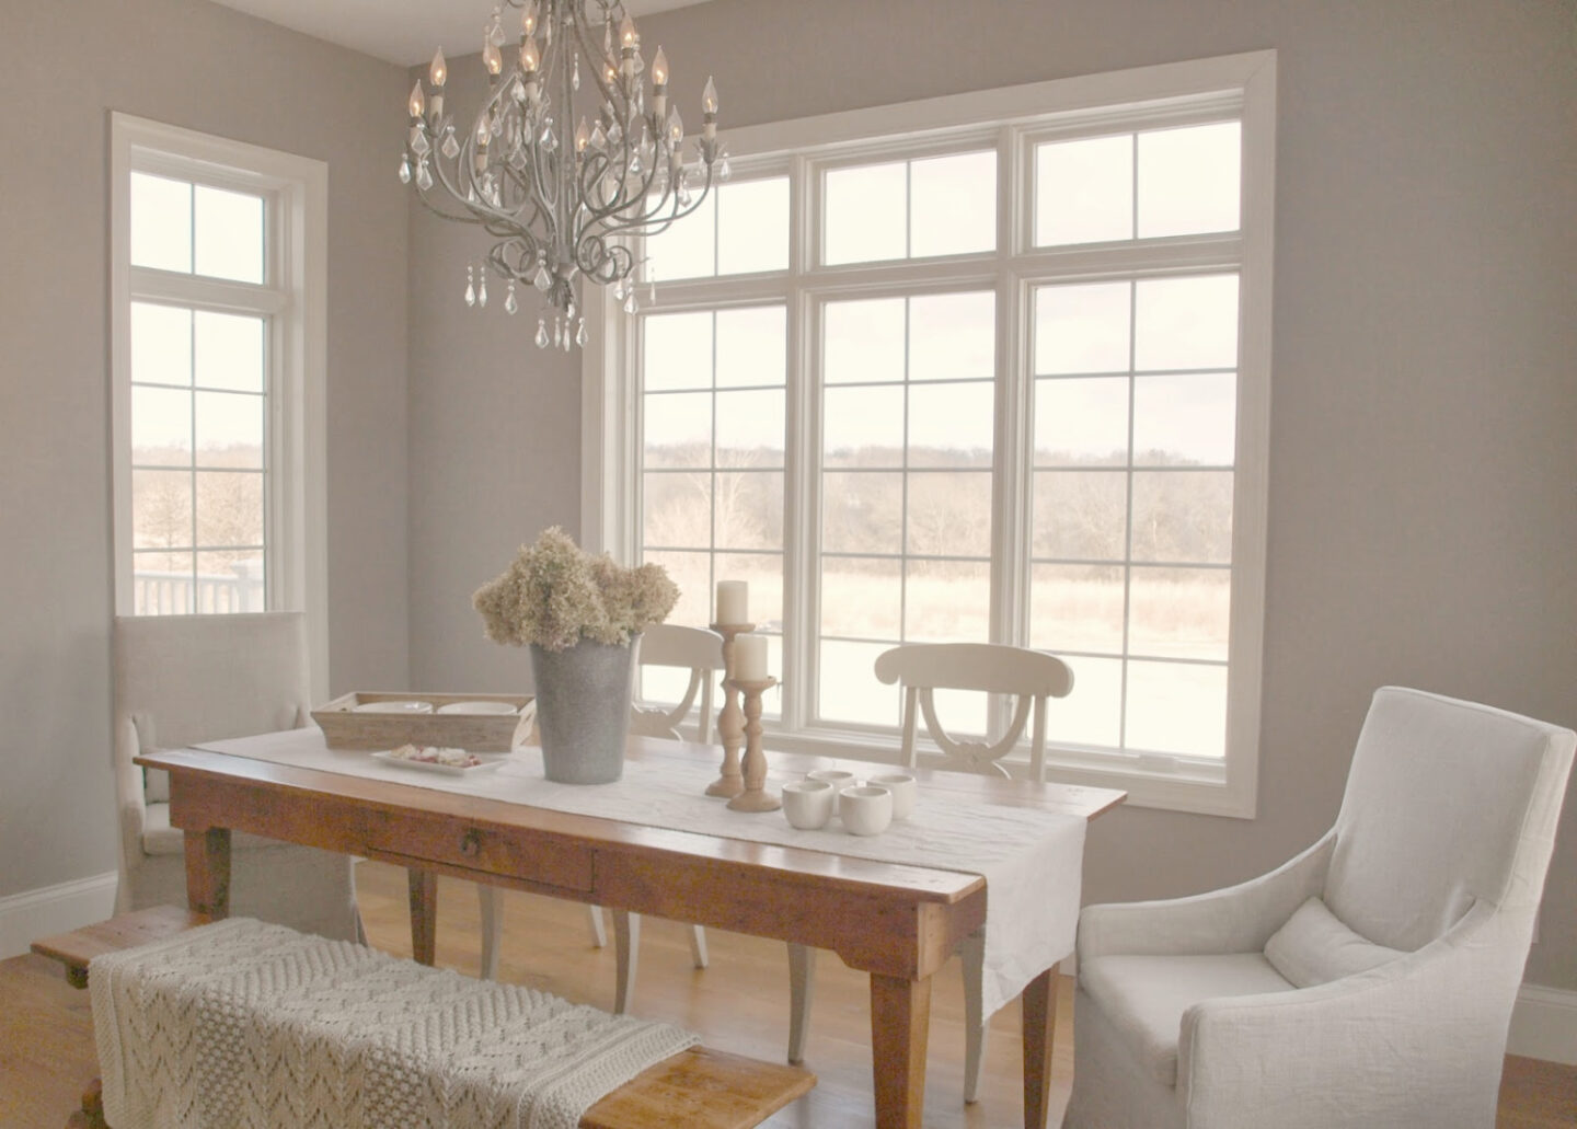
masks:
{"label": "white trim and mullions framing the large three-section window", "polygon": [[[1232,624],[1228,669],[1227,747],[1217,768],[1195,766],[1186,758],[1172,757],[1117,757],[1101,754],[1077,754],[1047,749],[1047,773],[1069,784],[1124,788],[1129,803],[1140,807],[1199,812],[1254,818],[1258,795],[1258,740],[1262,662],[1265,634],[1265,560],[1266,560],[1266,487],[1269,476],[1269,367],[1271,367],[1271,282],[1274,255],[1274,184],[1276,184],[1276,52],[1260,50],[1162,66],[1113,71],[1109,74],[1077,79],[986,90],[946,98],[934,98],[899,106],[882,106],[867,110],[848,110],[814,118],[798,118],[763,126],[730,131],[727,145],[732,159],[741,167],[757,164],[784,164],[806,159],[836,159],[841,147],[855,147],[866,139],[891,139],[897,147],[924,142],[940,136],[987,134],[998,131],[1005,140],[1003,177],[1025,177],[1022,153],[1023,137],[1046,128],[1046,117],[1057,115],[1057,129],[1099,131],[1123,106],[1139,102],[1165,104],[1176,99],[1180,106],[1208,106],[1211,95],[1221,95],[1224,104],[1232,104],[1243,123],[1243,213],[1241,227],[1227,237],[1189,238],[1191,259],[1200,268],[1221,263],[1224,244],[1232,244],[1240,276],[1240,325],[1243,336],[1238,348],[1238,421],[1235,456],[1235,505],[1232,542]],[[1131,117],[1128,121],[1131,123]],[[1129,125],[1129,128],[1132,128]],[[814,158],[806,158],[814,153]],[[809,196],[809,194],[806,194]],[[1020,194],[1022,196],[1022,194]],[[790,243],[793,257],[812,254],[806,246],[806,214],[812,207],[800,200],[800,211],[790,219]],[[998,248],[1025,246],[1030,218],[1025,214],[1001,216]],[[1001,254],[1001,252],[998,252]],[[1105,262],[1120,266],[1124,257],[1121,246],[1044,249],[1052,255],[1077,255],[1091,268]],[[982,274],[997,279],[1000,296],[1006,298],[1028,285],[1022,270],[997,271],[982,257]],[[1019,255],[1019,262],[1025,259]],[[823,268],[837,271],[841,281],[858,278],[864,265]],[[878,268],[891,279],[891,265]],[[916,278],[923,278],[926,263],[913,265]],[[746,276],[747,279],[749,276]],[[725,287],[741,295],[747,285],[735,285],[740,279],[719,279],[719,296]],[[793,287],[790,303],[807,303],[809,287]],[[637,465],[632,449],[636,434],[636,374],[629,356],[628,319],[617,303],[609,300],[602,287],[587,287],[583,295],[587,319],[593,326],[593,344],[582,356],[582,475],[580,475],[580,535],[582,544],[591,550],[606,550],[621,560],[632,560],[639,546],[634,506],[624,503],[637,498]],[[1005,341],[998,341],[998,358],[1012,380],[1028,378],[1023,356],[1028,334],[1017,325],[1019,317],[1005,319]],[[804,322],[804,320],[803,320]],[[792,339],[788,347],[788,371],[796,371],[798,355],[804,342]],[[1012,375],[1017,374],[1017,375]],[[809,389],[793,388],[788,393],[787,413],[790,434],[803,419],[814,419],[815,404]],[[1006,397],[998,397],[998,408]],[[809,416],[806,413],[811,413]],[[1001,421],[1003,424],[1008,421]],[[1005,438],[998,460],[1014,456],[1028,442],[1025,421],[1017,427],[998,426]],[[1012,448],[1012,449],[1009,449]],[[793,524],[793,509],[809,497],[806,479],[815,468],[801,467],[798,475],[788,471],[785,481],[785,522]],[[1008,476],[1003,476],[1008,478]],[[1023,508],[1027,498],[1011,505]],[[1022,516],[1020,516],[1020,520]],[[784,568],[787,576],[806,576],[812,561],[806,560],[809,546],[804,539],[792,539],[785,546]],[[995,553],[994,591],[1011,585],[1020,590],[1028,583],[1027,563],[1011,553]],[[798,607],[792,585],[784,591],[785,634],[801,631],[807,609]],[[994,623],[1005,617],[994,602]],[[787,658],[785,664],[793,664]],[[809,675],[809,659],[801,656],[787,676]],[[785,719],[793,727],[796,719]],[[800,719],[803,721],[803,719]],[[894,719],[896,724],[896,719]],[[841,732],[836,736],[817,733],[773,735],[777,747],[807,749],[831,755],[861,757],[867,760],[893,760],[897,746],[893,738]],[[1120,765],[1115,762],[1121,762]]]}

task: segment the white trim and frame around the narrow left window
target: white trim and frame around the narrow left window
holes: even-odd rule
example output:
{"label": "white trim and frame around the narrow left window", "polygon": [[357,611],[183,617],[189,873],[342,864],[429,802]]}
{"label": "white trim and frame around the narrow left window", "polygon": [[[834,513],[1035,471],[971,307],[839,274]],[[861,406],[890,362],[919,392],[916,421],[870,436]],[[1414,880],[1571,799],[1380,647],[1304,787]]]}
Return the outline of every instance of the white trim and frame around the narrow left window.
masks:
{"label": "white trim and frame around the narrow left window", "polygon": [[[311,158],[110,114],[110,429],[115,612],[131,615],[131,295],[167,290],[205,303],[257,289],[221,279],[167,278],[131,265],[131,173],[167,172],[276,200],[279,232],[268,260],[270,530],[278,544],[268,571],[270,607],[306,612],[314,700],[328,699],[328,166]],[[132,271],[137,284],[132,287]],[[287,325],[289,328],[281,328]],[[282,489],[278,489],[282,487]]]}

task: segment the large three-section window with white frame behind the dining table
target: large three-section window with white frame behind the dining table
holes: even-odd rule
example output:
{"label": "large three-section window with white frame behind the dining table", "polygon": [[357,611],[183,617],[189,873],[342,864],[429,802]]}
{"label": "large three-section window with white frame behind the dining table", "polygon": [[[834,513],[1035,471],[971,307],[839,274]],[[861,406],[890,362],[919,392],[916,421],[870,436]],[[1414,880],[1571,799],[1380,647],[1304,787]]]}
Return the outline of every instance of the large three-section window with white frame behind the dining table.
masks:
{"label": "large three-section window with white frame behind the dining table", "polygon": [[877,654],[1017,643],[1074,670],[1060,779],[1252,814],[1273,91],[1257,54],[763,126],[647,241],[585,525],[680,621],[751,582],[776,744],[880,755]]}

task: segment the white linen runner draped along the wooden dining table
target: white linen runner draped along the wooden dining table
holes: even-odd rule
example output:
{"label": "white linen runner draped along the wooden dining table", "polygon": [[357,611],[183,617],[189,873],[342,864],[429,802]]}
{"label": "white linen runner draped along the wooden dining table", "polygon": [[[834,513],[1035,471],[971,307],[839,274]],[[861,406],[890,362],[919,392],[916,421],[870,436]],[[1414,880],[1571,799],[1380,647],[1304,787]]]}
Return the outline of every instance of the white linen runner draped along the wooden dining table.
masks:
{"label": "white linen runner draped along the wooden dining table", "polygon": [[[705,793],[716,765],[684,757],[624,762],[615,784],[554,784],[542,777],[541,751],[516,749],[505,763],[475,776],[443,776],[374,760],[367,752],[330,749],[322,730],[208,741],[196,746],[279,765],[344,773],[506,803],[593,815],[672,831],[817,850],[986,878],[982,1001],[990,1015],[1074,948],[1083,870],[1085,820],[1063,812],[994,804],[921,785],[915,814],[880,836],[852,836],[836,817],[823,831],[788,826],[781,812],[733,812]],[[872,766],[872,771],[889,771]],[[771,787],[771,784],[768,784]]]}

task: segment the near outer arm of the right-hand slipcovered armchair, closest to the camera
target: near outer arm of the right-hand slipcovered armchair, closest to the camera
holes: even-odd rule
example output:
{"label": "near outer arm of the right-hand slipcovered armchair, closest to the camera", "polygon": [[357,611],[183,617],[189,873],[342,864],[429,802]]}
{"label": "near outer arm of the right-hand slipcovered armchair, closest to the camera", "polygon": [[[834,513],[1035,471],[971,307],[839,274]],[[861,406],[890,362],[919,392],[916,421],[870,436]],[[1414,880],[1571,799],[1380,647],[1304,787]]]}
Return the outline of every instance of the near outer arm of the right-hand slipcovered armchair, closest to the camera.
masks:
{"label": "near outer arm of the right-hand slipcovered armchair, closest to the camera", "polygon": [[1211,1129],[1482,1129],[1495,1123],[1527,946],[1478,904],[1416,952],[1298,992],[1183,1014],[1178,1097]]}

